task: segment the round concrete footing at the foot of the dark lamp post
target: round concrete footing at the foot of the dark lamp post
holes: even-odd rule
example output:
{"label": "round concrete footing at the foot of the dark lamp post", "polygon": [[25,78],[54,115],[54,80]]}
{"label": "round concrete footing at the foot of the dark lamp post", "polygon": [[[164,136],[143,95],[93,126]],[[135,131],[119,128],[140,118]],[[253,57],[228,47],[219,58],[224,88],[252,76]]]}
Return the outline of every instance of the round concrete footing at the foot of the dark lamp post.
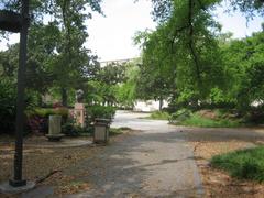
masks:
{"label": "round concrete footing at the foot of the dark lamp post", "polygon": [[21,187],[10,186],[10,184],[8,182],[8,183],[3,183],[0,185],[0,193],[2,193],[2,194],[21,194],[23,191],[33,189],[34,187],[35,187],[35,183],[33,183],[33,182],[26,182],[26,185],[21,186]]}

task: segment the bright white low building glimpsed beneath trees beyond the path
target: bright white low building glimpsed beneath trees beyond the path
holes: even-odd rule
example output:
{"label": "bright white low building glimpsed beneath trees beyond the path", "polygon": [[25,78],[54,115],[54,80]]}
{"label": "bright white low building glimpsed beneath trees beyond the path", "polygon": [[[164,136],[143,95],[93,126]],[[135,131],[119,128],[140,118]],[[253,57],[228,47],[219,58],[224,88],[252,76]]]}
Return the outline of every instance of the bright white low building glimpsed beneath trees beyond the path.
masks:
{"label": "bright white low building glimpsed beneath trees beyond the path", "polygon": [[[168,102],[163,101],[163,108],[167,108]],[[151,112],[151,111],[158,111],[160,110],[160,101],[155,100],[147,100],[147,101],[136,101],[134,103],[134,111],[144,111],[144,112]]]}

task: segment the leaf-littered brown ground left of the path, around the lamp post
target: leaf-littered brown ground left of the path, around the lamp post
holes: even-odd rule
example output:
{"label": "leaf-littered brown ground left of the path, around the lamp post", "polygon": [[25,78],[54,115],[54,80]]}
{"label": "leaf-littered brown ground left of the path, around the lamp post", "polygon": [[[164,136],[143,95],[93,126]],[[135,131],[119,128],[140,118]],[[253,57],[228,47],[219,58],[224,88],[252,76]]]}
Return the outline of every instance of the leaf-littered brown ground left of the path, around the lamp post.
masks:
{"label": "leaf-littered brown ground left of the path, around the lamp post", "polygon": [[[116,141],[121,141],[125,135],[132,133],[131,130],[124,130],[122,135],[112,136],[109,144]],[[84,138],[79,138],[84,140]],[[91,140],[91,138],[85,138]],[[106,146],[89,145],[80,147],[65,148],[45,148],[32,147],[32,144],[42,144],[46,141],[44,136],[25,138],[24,142],[24,158],[23,158],[23,178],[33,180],[38,186],[53,186],[55,195],[75,194],[87,190],[90,184],[78,183],[78,176],[88,175],[85,169],[78,169],[73,176],[66,176],[64,170],[69,166],[75,166],[80,161],[92,157],[105,150]],[[0,136],[0,184],[12,178],[13,172],[13,154],[14,140],[9,136]],[[11,198],[15,196],[0,197]]]}

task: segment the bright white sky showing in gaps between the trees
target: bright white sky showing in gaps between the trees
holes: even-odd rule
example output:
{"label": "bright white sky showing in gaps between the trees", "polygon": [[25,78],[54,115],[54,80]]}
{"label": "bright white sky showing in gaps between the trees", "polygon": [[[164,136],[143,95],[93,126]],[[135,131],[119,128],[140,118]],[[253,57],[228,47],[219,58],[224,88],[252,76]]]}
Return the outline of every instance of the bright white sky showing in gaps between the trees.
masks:
{"label": "bright white sky showing in gaps between the trees", "polygon": [[[92,20],[86,22],[89,38],[85,46],[99,56],[99,61],[116,61],[140,56],[140,48],[133,45],[136,31],[155,29],[152,20],[150,0],[105,0],[102,3],[105,15],[95,13]],[[223,8],[217,9],[216,19],[223,25],[223,32],[232,32],[233,37],[250,36],[252,32],[261,30],[262,18],[250,21],[237,12],[224,13]],[[19,34],[12,34],[9,43],[19,41]],[[0,43],[4,50],[7,42]]]}

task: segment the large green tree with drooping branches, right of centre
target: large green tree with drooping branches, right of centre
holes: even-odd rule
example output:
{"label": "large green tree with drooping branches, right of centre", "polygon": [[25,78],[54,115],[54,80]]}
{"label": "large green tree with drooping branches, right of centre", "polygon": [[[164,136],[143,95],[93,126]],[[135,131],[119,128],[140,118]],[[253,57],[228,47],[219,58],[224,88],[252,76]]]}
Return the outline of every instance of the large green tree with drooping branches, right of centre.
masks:
{"label": "large green tree with drooping branches, right of centre", "polygon": [[[153,2],[166,13],[155,31],[135,37],[143,48],[140,96],[146,99],[173,96],[175,102],[198,103],[209,97],[212,88],[224,87],[216,40],[220,28],[210,12],[189,1],[175,0],[165,7]],[[206,1],[204,7],[209,9],[213,2]]]}

